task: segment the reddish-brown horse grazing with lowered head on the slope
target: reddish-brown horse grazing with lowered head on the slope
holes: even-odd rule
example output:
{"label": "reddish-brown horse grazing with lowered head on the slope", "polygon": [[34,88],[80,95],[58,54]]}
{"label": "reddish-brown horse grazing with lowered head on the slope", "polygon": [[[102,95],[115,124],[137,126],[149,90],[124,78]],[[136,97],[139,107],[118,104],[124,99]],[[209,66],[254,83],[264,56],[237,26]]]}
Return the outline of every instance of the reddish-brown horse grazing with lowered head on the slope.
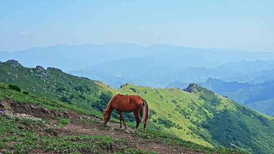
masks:
{"label": "reddish-brown horse grazing with lowered head on the slope", "polygon": [[122,112],[134,113],[134,117],[136,120],[136,127],[134,132],[138,130],[138,127],[140,124],[139,113],[143,109],[142,121],[144,122],[144,133],[146,133],[146,125],[149,119],[149,107],[146,100],[144,100],[142,97],[137,95],[120,95],[120,94],[115,95],[111,99],[109,105],[107,106],[107,109],[104,109],[104,121],[106,125],[108,121],[110,120],[111,113],[114,109],[120,115],[120,129],[122,128],[122,122],[125,125],[125,129],[127,129]]}

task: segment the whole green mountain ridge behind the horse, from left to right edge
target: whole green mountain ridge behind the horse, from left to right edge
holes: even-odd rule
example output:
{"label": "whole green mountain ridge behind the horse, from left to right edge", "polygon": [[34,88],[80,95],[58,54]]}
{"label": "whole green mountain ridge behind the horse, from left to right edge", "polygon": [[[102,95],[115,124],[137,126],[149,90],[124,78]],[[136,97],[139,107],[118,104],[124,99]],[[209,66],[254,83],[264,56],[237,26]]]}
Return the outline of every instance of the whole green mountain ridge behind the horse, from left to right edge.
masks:
{"label": "whole green mountain ridge behind the horse, from left to right edge", "polygon": [[[196,84],[185,91],[130,84],[116,90],[56,68],[25,68],[16,61],[0,64],[0,82],[88,109],[98,117],[114,94],[136,94],[149,103],[148,133],[159,132],[207,147],[229,147],[252,153],[273,153],[274,150],[273,118]],[[130,122],[132,115],[126,114],[126,117],[129,125],[134,126],[134,122]]]}

